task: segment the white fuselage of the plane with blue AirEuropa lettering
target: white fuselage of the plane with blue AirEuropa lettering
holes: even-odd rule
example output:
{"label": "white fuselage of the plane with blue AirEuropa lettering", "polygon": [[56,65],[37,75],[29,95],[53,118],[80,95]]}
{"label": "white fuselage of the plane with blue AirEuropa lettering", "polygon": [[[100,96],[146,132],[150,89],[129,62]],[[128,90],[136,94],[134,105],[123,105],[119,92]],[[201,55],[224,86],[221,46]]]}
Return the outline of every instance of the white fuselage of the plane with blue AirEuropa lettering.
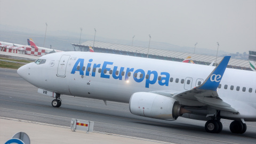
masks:
{"label": "white fuselage of the plane with blue AirEuropa lettering", "polygon": [[[19,74],[29,83],[60,94],[125,103],[129,103],[135,92],[175,93],[193,89],[199,81],[202,84],[215,68],[90,52],[60,52],[39,59],[45,59],[46,62],[40,65],[32,62],[19,69]],[[102,69],[100,73],[99,69]],[[113,73],[109,74],[111,70]],[[128,76],[129,72],[131,76]],[[137,77],[134,77],[135,73]],[[159,76],[161,79],[158,79]],[[249,120],[256,121],[256,74],[253,71],[227,68],[220,84],[219,97],[231,107],[243,111],[244,116],[247,115],[246,109],[252,109],[248,112]]]}

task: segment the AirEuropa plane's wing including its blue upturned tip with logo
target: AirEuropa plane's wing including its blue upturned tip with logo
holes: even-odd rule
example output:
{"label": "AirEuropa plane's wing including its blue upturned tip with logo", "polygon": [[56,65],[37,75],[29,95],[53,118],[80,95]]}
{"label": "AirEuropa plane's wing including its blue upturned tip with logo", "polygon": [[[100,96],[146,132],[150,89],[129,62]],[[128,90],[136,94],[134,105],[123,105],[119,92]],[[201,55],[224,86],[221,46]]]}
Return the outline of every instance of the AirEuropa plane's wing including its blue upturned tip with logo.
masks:
{"label": "AirEuropa plane's wing including its blue upturned tip with logo", "polygon": [[238,113],[237,110],[235,110],[228,103],[220,99],[217,92],[217,88],[226,70],[229,59],[229,56],[224,57],[221,60],[220,64],[206,78],[204,83],[195,87],[194,89],[183,92],[154,91],[153,93],[172,97],[178,100],[179,103],[183,106],[211,106],[212,108],[217,110]]}

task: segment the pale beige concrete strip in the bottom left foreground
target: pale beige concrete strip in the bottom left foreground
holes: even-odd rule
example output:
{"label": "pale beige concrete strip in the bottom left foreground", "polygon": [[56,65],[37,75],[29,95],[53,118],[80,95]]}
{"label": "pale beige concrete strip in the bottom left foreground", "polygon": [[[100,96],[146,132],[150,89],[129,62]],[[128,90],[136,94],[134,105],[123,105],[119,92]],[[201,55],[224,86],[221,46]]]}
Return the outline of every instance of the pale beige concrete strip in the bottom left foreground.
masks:
{"label": "pale beige concrete strip in the bottom left foreground", "polygon": [[67,126],[0,117],[0,143],[10,140],[18,132],[28,134],[30,143],[168,143],[97,131],[73,132]]}

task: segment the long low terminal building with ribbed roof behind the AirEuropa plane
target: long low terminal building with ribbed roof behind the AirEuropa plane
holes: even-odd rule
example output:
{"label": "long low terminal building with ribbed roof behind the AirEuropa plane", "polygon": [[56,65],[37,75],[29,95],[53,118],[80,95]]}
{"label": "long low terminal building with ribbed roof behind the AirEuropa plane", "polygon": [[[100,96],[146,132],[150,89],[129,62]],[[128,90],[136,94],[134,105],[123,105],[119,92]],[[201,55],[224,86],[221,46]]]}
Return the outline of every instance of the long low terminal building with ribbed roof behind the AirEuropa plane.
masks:
{"label": "long low terminal building with ribbed roof behind the AirEuropa plane", "polygon": [[[113,43],[103,43],[103,42],[94,42],[86,41],[82,44],[71,43],[75,51],[89,51],[89,46],[94,47],[94,52],[101,53],[114,53],[121,55],[131,55],[135,57],[143,57],[151,59],[161,59],[161,60],[170,60],[170,61],[183,61],[188,56],[191,59],[200,65],[210,65],[213,61],[216,60],[216,57],[210,55],[201,55],[201,54],[192,54],[192,53],[183,53],[183,52],[173,52],[160,49],[148,49],[146,47],[130,46],[130,45],[121,45]],[[217,63],[221,61],[222,57],[217,58]],[[214,65],[213,65],[214,66]],[[239,60],[231,58],[228,63],[228,68],[251,70],[249,61]]]}

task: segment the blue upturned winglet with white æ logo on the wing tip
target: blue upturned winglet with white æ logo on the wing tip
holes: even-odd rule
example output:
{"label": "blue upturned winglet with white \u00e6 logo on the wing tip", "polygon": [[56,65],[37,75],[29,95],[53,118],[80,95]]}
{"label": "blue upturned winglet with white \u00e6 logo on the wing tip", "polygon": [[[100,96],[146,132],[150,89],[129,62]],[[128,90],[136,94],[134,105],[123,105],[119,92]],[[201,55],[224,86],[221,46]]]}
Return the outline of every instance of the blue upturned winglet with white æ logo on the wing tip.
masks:
{"label": "blue upturned winglet with white \u00e6 logo on the wing tip", "polygon": [[217,87],[220,84],[221,78],[227,68],[229,59],[230,59],[230,56],[224,57],[220,61],[220,64],[217,67],[215,67],[215,69],[212,71],[212,73],[206,78],[204,83],[196,88],[201,89],[201,90],[216,91]]}

